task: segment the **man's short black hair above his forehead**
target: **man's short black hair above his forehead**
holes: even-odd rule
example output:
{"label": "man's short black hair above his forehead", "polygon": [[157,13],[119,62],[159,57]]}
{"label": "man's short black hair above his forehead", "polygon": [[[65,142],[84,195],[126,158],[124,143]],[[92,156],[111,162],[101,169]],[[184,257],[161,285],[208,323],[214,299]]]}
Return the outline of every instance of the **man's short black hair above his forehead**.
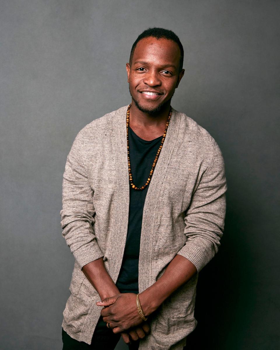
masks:
{"label": "man's short black hair above his forehead", "polygon": [[154,27],[154,28],[148,28],[141,33],[138,38],[134,41],[131,52],[130,52],[130,58],[129,58],[129,64],[131,65],[132,63],[132,57],[134,54],[135,47],[141,39],[148,38],[148,37],[154,37],[157,39],[165,38],[174,41],[180,49],[181,56],[180,56],[180,67],[179,67],[179,72],[183,69],[183,60],[184,60],[184,49],[183,45],[181,44],[181,41],[179,37],[174,33],[174,31],[165,29],[165,28],[159,28],[159,27]]}

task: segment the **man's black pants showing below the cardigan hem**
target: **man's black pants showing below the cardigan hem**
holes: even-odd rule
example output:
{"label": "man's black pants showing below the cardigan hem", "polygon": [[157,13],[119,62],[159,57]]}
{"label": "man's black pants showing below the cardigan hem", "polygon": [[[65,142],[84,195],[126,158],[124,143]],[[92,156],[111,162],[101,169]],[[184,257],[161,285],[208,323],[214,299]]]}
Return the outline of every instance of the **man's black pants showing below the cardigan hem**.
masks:
{"label": "man's black pants showing below the cardigan hem", "polygon": [[[62,350],[114,350],[120,337],[120,333],[113,333],[112,329],[106,326],[103,317],[100,316],[96,328],[94,329],[90,345],[71,338],[62,328]],[[128,348],[129,350],[137,350],[138,346],[139,341],[132,341],[132,344],[129,345]]]}

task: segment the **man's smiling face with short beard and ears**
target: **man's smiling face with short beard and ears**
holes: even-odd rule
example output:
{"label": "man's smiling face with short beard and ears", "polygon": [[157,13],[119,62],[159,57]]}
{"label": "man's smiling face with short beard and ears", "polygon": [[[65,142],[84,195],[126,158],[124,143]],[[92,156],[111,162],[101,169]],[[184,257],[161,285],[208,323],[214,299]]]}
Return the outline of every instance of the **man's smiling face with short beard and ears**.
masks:
{"label": "man's smiling face with short beard and ears", "polygon": [[178,45],[165,38],[148,37],[137,43],[126,70],[131,97],[140,111],[153,114],[170,103],[184,75],[184,70],[179,72],[180,54]]}

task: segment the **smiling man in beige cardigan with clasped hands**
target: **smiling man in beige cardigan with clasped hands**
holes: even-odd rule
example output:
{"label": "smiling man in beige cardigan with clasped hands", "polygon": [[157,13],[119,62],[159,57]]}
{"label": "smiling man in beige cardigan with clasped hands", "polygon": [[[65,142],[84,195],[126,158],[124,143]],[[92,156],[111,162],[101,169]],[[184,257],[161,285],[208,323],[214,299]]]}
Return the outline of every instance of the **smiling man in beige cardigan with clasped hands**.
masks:
{"label": "smiling man in beige cardigan with clasped hands", "polygon": [[226,180],[216,141],[170,107],[182,66],[172,31],[145,30],[126,64],[132,103],[73,142],[61,210],[75,257],[64,350],[114,349],[120,336],[130,349],[183,349],[196,327],[198,272],[220,245]]}

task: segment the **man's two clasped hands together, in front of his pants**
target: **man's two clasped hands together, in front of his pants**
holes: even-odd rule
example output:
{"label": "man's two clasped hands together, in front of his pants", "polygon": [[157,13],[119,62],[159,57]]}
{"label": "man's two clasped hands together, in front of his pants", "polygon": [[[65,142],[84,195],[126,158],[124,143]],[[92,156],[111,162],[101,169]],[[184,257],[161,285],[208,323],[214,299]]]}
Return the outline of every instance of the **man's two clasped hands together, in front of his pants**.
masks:
{"label": "man's two clasped hands together, in front of his pants", "polygon": [[129,342],[126,330],[133,340],[142,339],[149,332],[148,324],[143,322],[136,308],[136,296],[135,293],[121,293],[96,303],[105,307],[100,312],[103,321],[110,323],[114,333],[122,333],[126,343]]}

